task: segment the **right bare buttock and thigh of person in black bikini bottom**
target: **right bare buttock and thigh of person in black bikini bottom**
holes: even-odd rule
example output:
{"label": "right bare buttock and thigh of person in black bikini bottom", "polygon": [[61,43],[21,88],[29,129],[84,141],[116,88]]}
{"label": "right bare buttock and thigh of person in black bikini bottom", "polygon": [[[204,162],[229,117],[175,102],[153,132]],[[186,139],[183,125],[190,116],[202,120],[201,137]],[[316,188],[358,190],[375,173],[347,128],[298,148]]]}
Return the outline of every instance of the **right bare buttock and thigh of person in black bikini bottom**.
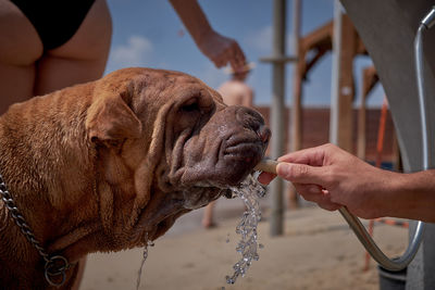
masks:
{"label": "right bare buttock and thigh of person in black bikini bottom", "polygon": [[105,0],[96,0],[77,33],[63,46],[44,54],[37,66],[34,93],[98,79],[104,73],[112,36]]}

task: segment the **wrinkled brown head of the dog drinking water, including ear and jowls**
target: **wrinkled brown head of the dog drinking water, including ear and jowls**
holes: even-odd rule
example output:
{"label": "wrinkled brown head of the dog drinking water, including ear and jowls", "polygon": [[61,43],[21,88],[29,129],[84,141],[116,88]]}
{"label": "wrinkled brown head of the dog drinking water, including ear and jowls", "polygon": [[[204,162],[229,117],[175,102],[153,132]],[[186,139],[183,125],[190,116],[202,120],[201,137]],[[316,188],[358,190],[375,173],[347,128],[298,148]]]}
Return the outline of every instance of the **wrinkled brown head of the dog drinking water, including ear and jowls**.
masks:
{"label": "wrinkled brown head of the dog drinking water, including ear and jowls", "polygon": [[270,137],[259,113],[226,106],[199,79],[147,68],[96,84],[86,130],[101,220],[120,249],[156,239],[182,214],[227,193],[262,159]]}

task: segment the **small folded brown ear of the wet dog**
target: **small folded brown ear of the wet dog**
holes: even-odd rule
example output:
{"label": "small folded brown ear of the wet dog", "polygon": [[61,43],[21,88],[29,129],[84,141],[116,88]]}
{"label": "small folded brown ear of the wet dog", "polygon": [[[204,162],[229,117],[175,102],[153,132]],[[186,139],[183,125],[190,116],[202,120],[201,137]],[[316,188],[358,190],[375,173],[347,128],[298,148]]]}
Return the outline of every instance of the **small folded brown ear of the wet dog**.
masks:
{"label": "small folded brown ear of the wet dog", "polygon": [[103,96],[89,106],[86,129],[90,141],[139,138],[142,126],[121,94]]}

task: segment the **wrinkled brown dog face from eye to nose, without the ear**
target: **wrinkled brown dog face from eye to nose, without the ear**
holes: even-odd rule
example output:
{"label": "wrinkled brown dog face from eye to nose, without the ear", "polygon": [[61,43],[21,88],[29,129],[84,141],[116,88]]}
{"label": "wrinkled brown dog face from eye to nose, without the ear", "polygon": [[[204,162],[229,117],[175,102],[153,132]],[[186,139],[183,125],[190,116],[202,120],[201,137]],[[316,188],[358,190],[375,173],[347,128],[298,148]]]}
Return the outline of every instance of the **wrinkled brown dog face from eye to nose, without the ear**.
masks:
{"label": "wrinkled brown dog face from eye to nose, without the ear", "polygon": [[198,80],[174,96],[166,129],[167,168],[161,188],[181,190],[192,210],[239,184],[264,154],[270,130],[262,116],[243,106],[226,106],[221,96]]}

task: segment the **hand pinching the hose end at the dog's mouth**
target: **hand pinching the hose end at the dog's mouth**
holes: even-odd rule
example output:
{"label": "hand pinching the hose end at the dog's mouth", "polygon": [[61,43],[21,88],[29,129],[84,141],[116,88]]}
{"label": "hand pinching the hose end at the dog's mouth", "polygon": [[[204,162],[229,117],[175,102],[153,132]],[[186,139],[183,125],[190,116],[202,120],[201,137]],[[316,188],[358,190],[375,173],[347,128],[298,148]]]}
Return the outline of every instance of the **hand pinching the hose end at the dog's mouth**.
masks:
{"label": "hand pinching the hose end at the dog's mouth", "polygon": [[[278,159],[277,175],[294,184],[306,200],[328,211],[346,205],[363,218],[382,215],[384,192],[394,173],[378,169],[333,144],[286,154]],[[259,181],[275,176],[262,173]]]}

